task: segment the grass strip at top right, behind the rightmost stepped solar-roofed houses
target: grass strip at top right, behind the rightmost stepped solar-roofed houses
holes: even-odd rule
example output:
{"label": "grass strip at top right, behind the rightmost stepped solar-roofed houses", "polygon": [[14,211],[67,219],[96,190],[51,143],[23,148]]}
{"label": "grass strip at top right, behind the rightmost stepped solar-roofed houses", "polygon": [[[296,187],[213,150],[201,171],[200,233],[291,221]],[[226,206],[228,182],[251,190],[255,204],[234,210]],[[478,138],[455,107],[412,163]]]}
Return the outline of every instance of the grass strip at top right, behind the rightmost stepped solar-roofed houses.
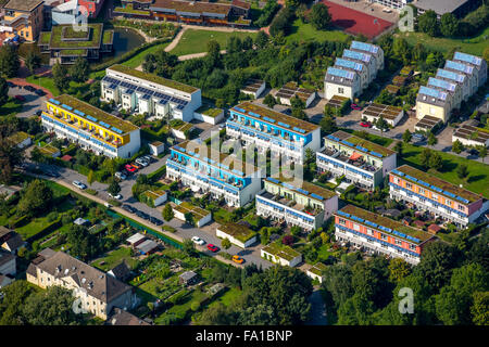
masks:
{"label": "grass strip at top right, behind the rightmost stepped solar-roofed houses", "polygon": [[485,48],[489,47],[489,27],[480,35],[471,39],[434,38],[423,33],[401,33],[397,35],[405,38],[411,46],[419,42],[427,49],[441,52],[448,52],[456,48],[465,53],[481,56]]}

